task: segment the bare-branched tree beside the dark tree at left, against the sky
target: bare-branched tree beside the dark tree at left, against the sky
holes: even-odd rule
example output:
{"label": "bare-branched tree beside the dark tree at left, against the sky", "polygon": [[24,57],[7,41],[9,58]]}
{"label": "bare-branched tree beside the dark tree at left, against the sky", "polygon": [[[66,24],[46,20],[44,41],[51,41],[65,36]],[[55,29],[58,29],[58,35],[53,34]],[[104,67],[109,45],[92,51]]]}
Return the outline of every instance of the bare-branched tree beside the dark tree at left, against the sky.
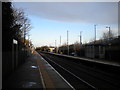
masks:
{"label": "bare-branched tree beside the dark tree at left, against the sky", "polygon": [[13,15],[15,17],[14,27],[17,27],[17,29],[15,28],[17,30],[16,37],[19,39],[24,37],[25,44],[26,35],[29,34],[31,29],[30,20],[27,18],[22,9],[14,9]]}

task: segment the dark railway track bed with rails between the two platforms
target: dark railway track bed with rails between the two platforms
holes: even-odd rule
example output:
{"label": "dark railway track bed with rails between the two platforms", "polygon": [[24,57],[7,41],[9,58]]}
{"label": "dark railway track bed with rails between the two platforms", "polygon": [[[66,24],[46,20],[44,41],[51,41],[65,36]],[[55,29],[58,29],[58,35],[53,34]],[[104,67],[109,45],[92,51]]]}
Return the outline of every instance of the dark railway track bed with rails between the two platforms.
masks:
{"label": "dark railway track bed with rails between the two platforms", "polygon": [[120,78],[116,74],[77,64],[65,58],[40,53],[75,89],[120,89]]}

